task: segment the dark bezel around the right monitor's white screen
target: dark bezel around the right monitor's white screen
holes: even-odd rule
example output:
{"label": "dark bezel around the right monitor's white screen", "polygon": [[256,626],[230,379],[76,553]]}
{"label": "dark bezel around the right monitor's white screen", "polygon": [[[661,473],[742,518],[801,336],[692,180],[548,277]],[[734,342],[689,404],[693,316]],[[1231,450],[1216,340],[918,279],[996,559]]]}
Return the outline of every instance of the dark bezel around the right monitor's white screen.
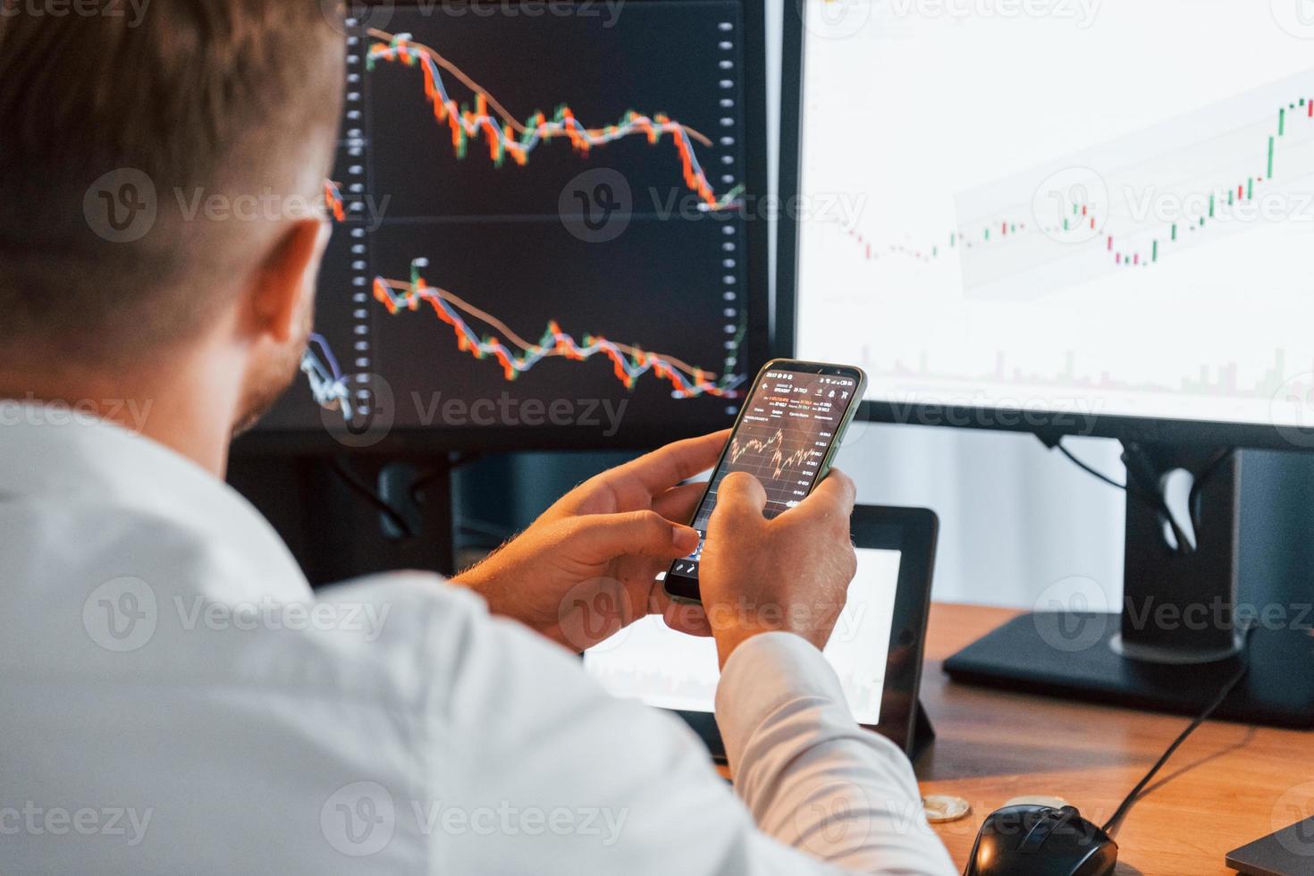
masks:
{"label": "dark bezel around the right monitor's white screen", "polygon": [[[805,75],[804,16],[808,0],[786,3],[782,22],[781,63],[781,167],[778,194],[782,204],[802,196],[803,85]],[[795,211],[782,210],[777,239],[777,356],[796,357],[799,310],[799,222]],[[1129,319],[1131,317],[1129,315]],[[809,351],[817,353],[819,351]],[[871,383],[869,381],[869,391]],[[1273,450],[1314,449],[1314,428],[1286,424],[1193,420],[1133,416],[1126,414],[1072,414],[1054,410],[1018,410],[975,405],[895,403],[863,401],[857,419],[871,423],[933,426],[1024,432],[1047,444],[1063,436],[1117,439],[1123,443],[1192,447],[1244,447]],[[1079,420],[1076,423],[1070,420]]]}

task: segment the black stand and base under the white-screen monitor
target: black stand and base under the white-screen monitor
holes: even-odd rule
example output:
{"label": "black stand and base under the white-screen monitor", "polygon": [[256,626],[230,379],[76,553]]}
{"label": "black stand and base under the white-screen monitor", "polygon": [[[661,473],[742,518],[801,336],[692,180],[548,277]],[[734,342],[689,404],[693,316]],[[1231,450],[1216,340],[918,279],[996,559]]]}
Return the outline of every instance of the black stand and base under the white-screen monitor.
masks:
{"label": "black stand and base under the white-screen monitor", "polygon": [[[1284,465],[1280,457],[1290,454],[1254,458],[1256,468],[1271,471]],[[1250,456],[1125,444],[1123,461],[1129,477],[1121,613],[1037,604],[950,657],[945,671],[959,682],[1190,714],[1204,709],[1240,667],[1239,630],[1251,626],[1244,657],[1250,670],[1215,717],[1314,728],[1309,565],[1294,570],[1292,579],[1298,583],[1289,594],[1268,586],[1284,574],[1292,577],[1290,563],[1282,561],[1306,553],[1302,545],[1314,533],[1275,540],[1256,531],[1255,537],[1242,538],[1242,469],[1251,468]],[[1173,550],[1158,510],[1175,469],[1196,478],[1196,546],[1187,553]],[[1264,473],[1256,474],[1263,489],[1247,514],[1252,504],[1256,517],[1264,517],[1292,485],[1281,475],[1265,483]],[[1242,575],[1243,570],[1252,574]],[[1255,592],[1238,602],[1242,577]]]}

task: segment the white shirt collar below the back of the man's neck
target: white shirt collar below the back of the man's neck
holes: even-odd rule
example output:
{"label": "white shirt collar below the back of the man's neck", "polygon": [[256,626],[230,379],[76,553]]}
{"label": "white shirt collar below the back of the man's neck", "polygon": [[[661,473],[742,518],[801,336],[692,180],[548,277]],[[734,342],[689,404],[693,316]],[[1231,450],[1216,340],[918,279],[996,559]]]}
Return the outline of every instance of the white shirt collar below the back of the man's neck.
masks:
{"label": "white shirt collar below the back of the man's neck", "polygon": [[0,401],[0,500],[95,500],[143,511],[234,557],[265,592],[310,592],[273,527],[233,487],[175,450],[87,412]]}

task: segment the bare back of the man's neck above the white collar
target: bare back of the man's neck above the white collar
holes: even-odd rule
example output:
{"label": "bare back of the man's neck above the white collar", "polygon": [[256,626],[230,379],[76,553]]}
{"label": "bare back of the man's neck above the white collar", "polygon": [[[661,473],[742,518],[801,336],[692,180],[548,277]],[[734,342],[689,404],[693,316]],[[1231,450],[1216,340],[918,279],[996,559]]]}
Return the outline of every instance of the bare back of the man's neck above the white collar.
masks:
{"label": "bare back of the man's neck above the white collar", "polygon": [[0,399],[62,405],[114,423],[223,478],[239,403],[231,382],[197,362],[158,362],[139,376],[0,370]]}

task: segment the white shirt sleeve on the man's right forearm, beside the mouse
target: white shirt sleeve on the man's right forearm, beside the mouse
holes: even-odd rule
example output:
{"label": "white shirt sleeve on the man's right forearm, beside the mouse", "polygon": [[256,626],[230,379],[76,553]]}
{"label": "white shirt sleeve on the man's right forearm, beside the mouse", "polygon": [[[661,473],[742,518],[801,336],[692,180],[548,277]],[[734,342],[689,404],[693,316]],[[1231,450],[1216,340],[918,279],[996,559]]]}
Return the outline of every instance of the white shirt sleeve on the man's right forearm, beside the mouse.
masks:
{"label": "white shirt sleeve on the man's right forearm, beside the mouse", "polygon": [[912,766],[858,725],[816,647],[763,633],[725,662],[716,722],[735,789],[759,829],[844,871],[954,873]]}

